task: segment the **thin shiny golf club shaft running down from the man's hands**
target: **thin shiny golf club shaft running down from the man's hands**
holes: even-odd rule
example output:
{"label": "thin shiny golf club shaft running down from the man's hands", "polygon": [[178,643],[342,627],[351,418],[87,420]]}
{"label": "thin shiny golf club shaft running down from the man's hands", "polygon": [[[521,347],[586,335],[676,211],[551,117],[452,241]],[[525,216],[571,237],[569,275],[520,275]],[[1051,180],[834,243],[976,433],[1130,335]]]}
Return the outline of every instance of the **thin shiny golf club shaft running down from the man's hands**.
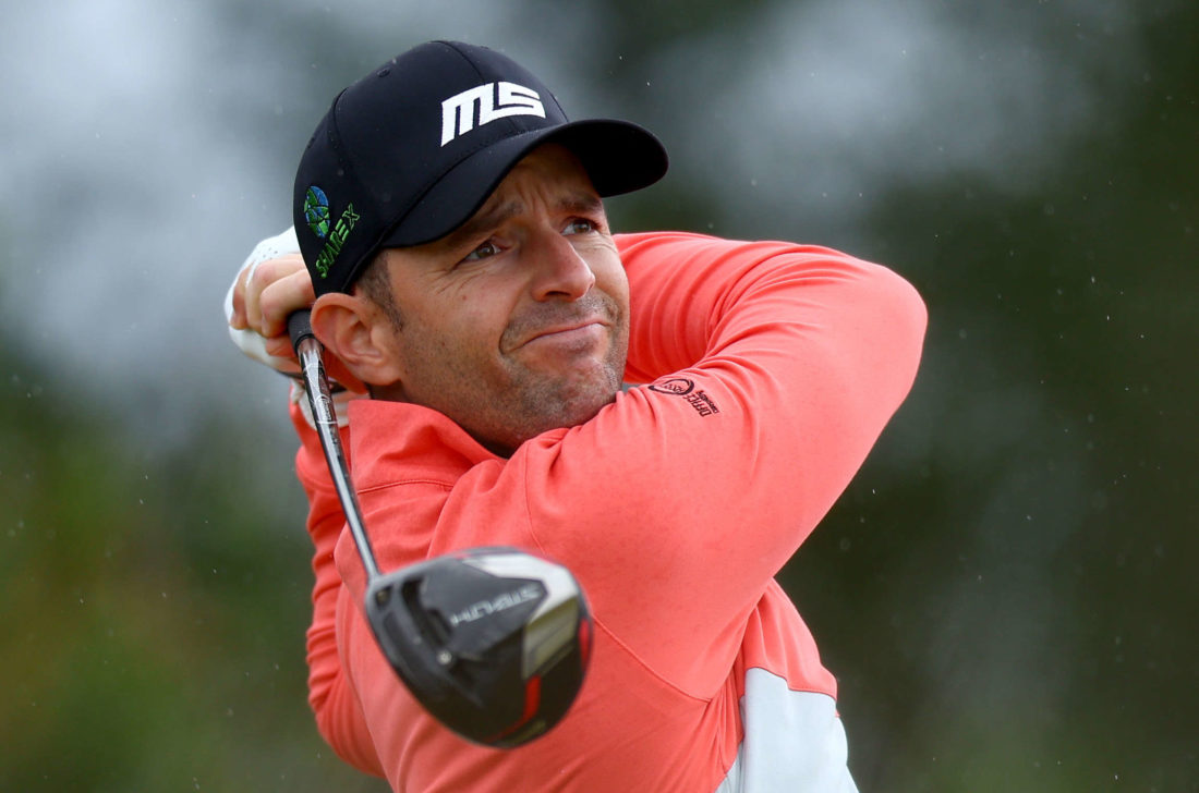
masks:
{"label": "thin shiny golf club shaft running down from the man's hands", "polygon": [[312,333],[307,310],[295,311],[288,317],[288,335],[291,337],[291,345],[300,358],[300,369],[303,374],[305,392],[308,394],[308,405],[312,407],[313,423],[320,436],[320,446],[325,449],[325,462],[329,465],[333,488],[337,489],[337,497],[342,502],[345,522],[350,527],[354,544],[362,558],[367,580],[374,580],[379,577],[379,565],[375,562],[374,550],[370,547],[370,538],[367,537],[366,527],[362,525],[362,508],[354,492],[350,470],[342,450],[342,435],[333,411],[329,376],[325,374],[324,347]]}

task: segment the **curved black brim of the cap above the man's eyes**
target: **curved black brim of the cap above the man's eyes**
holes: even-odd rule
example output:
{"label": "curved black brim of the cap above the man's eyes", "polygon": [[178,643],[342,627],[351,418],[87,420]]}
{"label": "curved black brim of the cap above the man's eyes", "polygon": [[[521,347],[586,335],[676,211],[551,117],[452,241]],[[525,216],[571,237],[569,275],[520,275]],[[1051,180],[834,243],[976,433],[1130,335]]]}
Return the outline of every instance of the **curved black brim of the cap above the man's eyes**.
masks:
{"label": "curved black brim of the cap above the man's eyes", "polygon": [[561,144],[579,158],[601,198],[649,187],[669,165],[662,143],[627,121],[580,120],[512,135],[458,163],[378,247],[404,248],[446,236],[475,214],[518,162],[548,143]]}

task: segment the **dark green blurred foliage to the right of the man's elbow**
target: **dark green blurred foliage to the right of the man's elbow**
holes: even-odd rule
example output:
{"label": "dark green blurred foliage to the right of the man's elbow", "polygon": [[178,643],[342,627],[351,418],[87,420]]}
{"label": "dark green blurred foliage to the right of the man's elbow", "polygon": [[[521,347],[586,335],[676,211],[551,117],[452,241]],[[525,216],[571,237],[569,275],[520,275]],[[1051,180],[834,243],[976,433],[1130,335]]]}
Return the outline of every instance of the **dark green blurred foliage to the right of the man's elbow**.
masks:
{"label": "dark green blurred foliage to the right of the man's elbow", "polygon": [[926,362],[785,582],[863,789],[1199,789],[1195,22],[1052,183],[898,190],[858,250]]}

